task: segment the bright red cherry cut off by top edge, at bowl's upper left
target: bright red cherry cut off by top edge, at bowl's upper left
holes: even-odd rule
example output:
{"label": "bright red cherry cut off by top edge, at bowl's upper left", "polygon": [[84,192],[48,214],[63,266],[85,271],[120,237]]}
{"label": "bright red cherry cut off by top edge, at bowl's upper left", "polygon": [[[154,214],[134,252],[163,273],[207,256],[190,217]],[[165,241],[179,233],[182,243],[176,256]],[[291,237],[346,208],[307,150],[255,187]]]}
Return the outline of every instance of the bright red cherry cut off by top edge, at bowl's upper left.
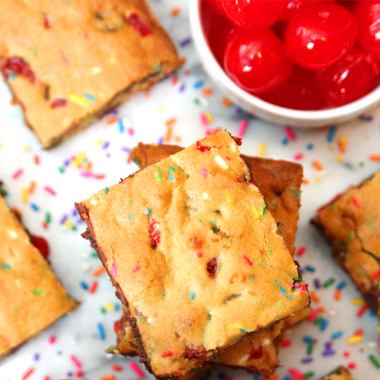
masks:
{"label": "bright red cherry cut off by top edge, at bowl's upper left", "polygon": [[220,0],[229,19],[246,30],[273,25],[286,8],[288,0]]}

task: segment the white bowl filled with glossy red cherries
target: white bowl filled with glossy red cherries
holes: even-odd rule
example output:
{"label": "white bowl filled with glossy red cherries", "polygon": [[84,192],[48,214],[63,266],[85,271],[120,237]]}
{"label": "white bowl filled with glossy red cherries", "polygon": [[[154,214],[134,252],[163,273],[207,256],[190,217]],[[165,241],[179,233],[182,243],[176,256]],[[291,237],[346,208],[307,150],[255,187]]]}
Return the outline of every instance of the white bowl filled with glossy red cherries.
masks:
{"label": "white bowl filled with glossy red cherries", "polygon": [[380,103],[380,0],[190,1],[206,72],[247,112],[337,124]]}

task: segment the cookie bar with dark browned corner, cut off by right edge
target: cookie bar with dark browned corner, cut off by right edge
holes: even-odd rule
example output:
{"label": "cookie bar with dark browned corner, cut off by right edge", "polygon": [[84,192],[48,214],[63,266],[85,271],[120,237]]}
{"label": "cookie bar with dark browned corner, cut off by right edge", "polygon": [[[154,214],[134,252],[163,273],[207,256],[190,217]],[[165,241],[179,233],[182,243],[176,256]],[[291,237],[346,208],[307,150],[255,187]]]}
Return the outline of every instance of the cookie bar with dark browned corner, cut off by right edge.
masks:
{"label": "cookie bar with dark browned corner, cut off by right edge", "polygon": [[320,208],[312,221],[380,316],[380,171]]}

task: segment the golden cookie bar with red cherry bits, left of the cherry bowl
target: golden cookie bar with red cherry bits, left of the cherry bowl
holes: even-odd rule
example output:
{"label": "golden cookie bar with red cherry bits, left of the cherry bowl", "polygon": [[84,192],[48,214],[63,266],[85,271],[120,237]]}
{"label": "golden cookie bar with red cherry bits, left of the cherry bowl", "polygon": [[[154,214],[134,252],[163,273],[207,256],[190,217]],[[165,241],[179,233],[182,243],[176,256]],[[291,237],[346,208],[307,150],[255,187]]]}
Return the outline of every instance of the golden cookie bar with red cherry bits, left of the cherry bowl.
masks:
{"label": "golden cookie bar with red cherry bits, left of the cherry bowl", "polygon": [[45,148],[179,67],[145,0],[7,0],[0,24],[1,71]]}

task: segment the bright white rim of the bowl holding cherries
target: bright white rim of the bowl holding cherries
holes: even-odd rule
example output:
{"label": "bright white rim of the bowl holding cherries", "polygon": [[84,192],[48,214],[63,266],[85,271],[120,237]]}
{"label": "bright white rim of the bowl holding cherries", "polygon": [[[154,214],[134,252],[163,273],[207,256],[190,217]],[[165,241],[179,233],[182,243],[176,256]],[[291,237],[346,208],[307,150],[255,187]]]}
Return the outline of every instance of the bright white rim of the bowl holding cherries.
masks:
{"label": "bright white rim of the bowl holding cherries", "polygon": [[352,115],[358,115],[361,112],[365,112],[365,110],[371,105],[375,105],[380,102],[380,85],[367,95],[355,100],[354,102],[348,103],[344,106],[315,111],[294,110],[291,108],[280,107],[244,91],[228,77],[228,75],[220,67],[208,46],[200,17],[202,1],[204,0],[189,1],[190,26],[195,39],[196,47],[198,48],[200,55],[203,57],[203,60],[207,62],[209,71],[213,73],[212,76],[217,77],[230,93],[235,93],[237,97],[242,98],[243,101],[249,103],[252,107],[256,107],[269,114],[275,114],[288,119],[294,119],[302,122],[313,122],[318,120],[323,124],[324,121],[331,122],[333,119],[349,118]]}

